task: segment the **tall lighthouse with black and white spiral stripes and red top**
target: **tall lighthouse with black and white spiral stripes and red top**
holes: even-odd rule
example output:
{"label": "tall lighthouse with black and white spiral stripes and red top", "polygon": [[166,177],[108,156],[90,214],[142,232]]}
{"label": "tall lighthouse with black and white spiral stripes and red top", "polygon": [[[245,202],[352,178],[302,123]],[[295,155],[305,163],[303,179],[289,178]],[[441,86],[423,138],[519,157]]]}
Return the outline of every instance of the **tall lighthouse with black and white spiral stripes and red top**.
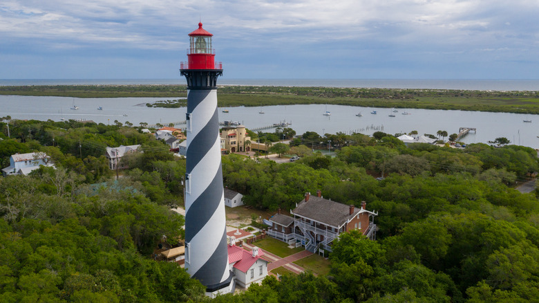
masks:
{"label": "tall lighthouse with black and white spiral stripes and red top", "polygon": [[187,62],[187,167],[185,174],[185,268],[206,286],[206,295],[234,290],[228,265],[223,170],[221,168],[217,77],[211,33],[198,24],[189,34]]}

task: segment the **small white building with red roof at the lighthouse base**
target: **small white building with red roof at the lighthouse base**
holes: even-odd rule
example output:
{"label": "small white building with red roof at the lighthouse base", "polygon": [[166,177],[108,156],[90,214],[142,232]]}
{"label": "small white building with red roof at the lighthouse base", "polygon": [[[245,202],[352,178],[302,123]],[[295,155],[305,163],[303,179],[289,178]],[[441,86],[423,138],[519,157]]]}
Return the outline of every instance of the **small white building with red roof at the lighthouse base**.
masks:
{"label": "small white building with red roof at the lighthouse base", "polygon": [[229,269],[234,273],[236,284],[249,288],[252,283],[260,283],[267,276],[267,260],[263,259],[263,250],[253,247],[249,252],[236,246],[234,237],[230,238],[228,245]]}

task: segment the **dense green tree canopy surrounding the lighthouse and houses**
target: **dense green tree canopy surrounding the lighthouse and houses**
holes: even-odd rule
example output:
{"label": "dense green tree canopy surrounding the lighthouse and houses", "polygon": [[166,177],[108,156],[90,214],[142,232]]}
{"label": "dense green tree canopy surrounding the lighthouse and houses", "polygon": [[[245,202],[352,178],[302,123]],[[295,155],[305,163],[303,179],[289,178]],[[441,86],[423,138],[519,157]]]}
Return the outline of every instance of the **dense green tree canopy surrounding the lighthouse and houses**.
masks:
{"label": "dense green tree canopy surrounding the lighthouse and houses", "polygon": [[[0,122],[0,164],[41,151],[56,169],[0,178],[2,302],[206,302],[204,287],[154,261],[181,239],[185,159],[138,127]],[[284,130],[282,130],[284,132]],[[292,131],[286,129],[287,134]],[[291,135],[292,136],[292,135]],[[335,156],[313,151],[331,140]],[[377,241],[339,238],[328,275],[269,276],[216,302],[533,302],[539,297],[539,192],[514,187],[539,169],[528,147],[465,149],[413,144],[390,134],[307,132],[293,163],[223,156],[225,185],[259,210],[290,210],[305,192],[367,202]],[[142,145],[115,178],[106,146]],[[384,176],[384,178],[376,177]]]}

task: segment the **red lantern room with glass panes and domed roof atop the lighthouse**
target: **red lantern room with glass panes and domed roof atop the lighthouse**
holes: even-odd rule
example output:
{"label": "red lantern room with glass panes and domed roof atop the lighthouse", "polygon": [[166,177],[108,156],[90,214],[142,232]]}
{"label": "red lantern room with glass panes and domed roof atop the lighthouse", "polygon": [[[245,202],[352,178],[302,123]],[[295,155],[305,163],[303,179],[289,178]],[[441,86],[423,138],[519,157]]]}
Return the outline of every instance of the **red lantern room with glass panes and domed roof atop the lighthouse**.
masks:
{"label": "red lantern room with glass panes and domed roof atop the lighthouse", "polygon": [[[181,69],[216,69],[215,50],[211,46],[211,33],[202,28],[202,22],[198,29],[189,34],[189,50],[187,50],[187,66],[182,62]],[[218,64],[217,69],[223,69]]]}

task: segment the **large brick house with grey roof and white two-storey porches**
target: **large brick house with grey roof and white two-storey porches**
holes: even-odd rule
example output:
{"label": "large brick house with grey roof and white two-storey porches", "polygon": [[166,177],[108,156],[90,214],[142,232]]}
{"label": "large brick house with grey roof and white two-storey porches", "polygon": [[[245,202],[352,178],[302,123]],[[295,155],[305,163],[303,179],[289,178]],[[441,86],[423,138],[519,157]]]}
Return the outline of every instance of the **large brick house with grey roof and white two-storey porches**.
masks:
{"label": "large brick house with grey roof and white two-storey porches", "polygon": [[290,213],[293,218],[281,211],[270,218],[272,227],[267,234],[289,244],[299,243],[310,252],[332,251],[332,241],[350,230],[361,230],[369,239],[376,237],[373,220],[378,214],[366,210],[365,201],[361,202],[361,208],[356,208],[324,199],[319,190],[316,196],[306,193],[305,199]]}

